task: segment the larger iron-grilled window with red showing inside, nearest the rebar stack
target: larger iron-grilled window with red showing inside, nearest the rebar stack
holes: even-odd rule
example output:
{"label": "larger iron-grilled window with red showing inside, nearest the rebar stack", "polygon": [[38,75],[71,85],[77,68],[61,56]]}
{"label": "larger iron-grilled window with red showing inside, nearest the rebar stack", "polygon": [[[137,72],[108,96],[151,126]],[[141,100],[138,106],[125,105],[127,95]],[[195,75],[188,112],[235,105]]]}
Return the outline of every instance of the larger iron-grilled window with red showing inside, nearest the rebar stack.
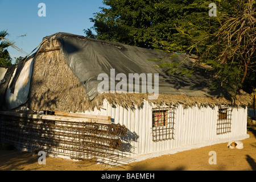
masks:
{"label": "larger iron-grilled window with red showing inside, nearest the rebar stack", "polygon": [[174,107],[152,109],[152,140],[174,139]]}

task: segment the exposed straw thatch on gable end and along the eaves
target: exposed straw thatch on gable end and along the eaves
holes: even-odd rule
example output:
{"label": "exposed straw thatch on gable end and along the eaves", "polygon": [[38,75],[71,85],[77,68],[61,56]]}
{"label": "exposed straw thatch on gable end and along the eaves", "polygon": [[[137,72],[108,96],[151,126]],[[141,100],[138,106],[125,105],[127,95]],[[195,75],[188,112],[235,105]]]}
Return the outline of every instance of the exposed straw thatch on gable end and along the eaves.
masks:
{"label": "exposed straw thatch on gable end and along the eaves", "polygon": [[[100,93],[92,101],[86,97],[86,91],[72,69],[67,64],[59,40],[44,38],[44,43],[35,53],[31,76],[30,93],[25,106],[32,110],[52,110],[82,112],[103,106],[104,100],[110,104],[125,108],[143,106],[148,100],[146,93]],[[247,106],[249,94],[241,91],[234,97],[184,96],[183,94],[159,94],[158,99],[148,100],[155,105],[210,106],[230,105]]]}

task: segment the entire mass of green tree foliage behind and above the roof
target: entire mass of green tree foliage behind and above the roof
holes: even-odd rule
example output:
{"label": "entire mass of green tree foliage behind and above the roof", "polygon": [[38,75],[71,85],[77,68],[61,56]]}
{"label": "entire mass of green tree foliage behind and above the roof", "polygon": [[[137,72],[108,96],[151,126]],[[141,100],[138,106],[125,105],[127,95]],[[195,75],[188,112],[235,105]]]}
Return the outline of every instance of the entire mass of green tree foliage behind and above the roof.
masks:
{"label": "entire mass of green tree foliage behind and above the roof", "polygon": [[[217,16],[199,0],[104,0],[85,33],[96,39],[167,52],[196,55],[197,65],[214,73],[211,89],[251,90],[255,82],[255,0],[216,0]],[[191,76],[193,70],[161,61],[170,74]],[[181,63],[182,64],[182,63]],[[246,83],[246,84],[245,84]],[[254,85],[255,88],[255,85]]]}

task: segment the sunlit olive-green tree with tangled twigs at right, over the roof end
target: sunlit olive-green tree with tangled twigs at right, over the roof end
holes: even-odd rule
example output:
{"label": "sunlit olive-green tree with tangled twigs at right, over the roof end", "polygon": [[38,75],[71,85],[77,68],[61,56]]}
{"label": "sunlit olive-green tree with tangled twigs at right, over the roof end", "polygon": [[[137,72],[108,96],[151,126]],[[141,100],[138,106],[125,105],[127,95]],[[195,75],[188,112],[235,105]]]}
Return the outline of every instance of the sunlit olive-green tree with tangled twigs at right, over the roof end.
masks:
{"label": "sunlit olive-green tree with tangled twigs at right, over the roof end", "polygon": [[[221,3],[219,7],[222,5]],[[214,73],[211,89],[224,88],[228,92],[236,92],[243,88],[249,91],[255,88],[255,77],[247,76],[248,70],[252,72],[249,76],[255,75],[255,1],[237,1],[233,4],[231,12],[233,13],[222,12],[217,16],[216,20],[220,25],[216,26],[214,31],[210,30],[212,26],[209,25],[209,28],[204,30],[195,28],[199,32],[203,31],[199,34],[200,37],[196,36],[195,32],[187,32],[186,37],[195,42],[186,47],[185,51],[199,56],[197,63],[211,67],[210,70]],[[179,35],[184,35],[182,30]],[[243,84],[245,79],[253,81],[251,88]]]}

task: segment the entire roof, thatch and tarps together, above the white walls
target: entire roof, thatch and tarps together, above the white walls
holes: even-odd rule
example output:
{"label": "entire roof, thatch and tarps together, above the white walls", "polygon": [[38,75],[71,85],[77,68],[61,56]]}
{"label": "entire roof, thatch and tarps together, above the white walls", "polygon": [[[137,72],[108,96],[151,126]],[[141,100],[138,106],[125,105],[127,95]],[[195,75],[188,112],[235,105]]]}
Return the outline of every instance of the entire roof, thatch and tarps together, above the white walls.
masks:
{"label": "entire roof, thatch and tarps together, above the white walls", "polygon": [[[97,80],[97,77],[101,73],[110,77],[111,69],[115,69],[115,76],[123,73],[127,78],[135,73],[158,73],[159,97],[150,100],[150,103],[158,106],[247,106],[250,102],[249,94],[245,92],[232,97],[225,97],[222,92],[210,93],[207,88],[211,79],[203,68],[191,78],[169,76],[162,69],[154,67],[158,62],[148,60],[167,57],[170,61],[183,61],[183,67],[189,69],[193,61],[186,55],[175,54],[170,58],[165,52],[67,33],[46,36],[39,46],[34,55],[25,57],[8,69],[0,69],[1,109],[10,110],[24,104],[32,110],[82,112],[99,109],[105,99],[110,104],[125,108],[141,107],[144,100],[150,100],[147,93],[98,94],[97,86],[101,80]],[[26,67],[26,64],[30,66]],[[115,84],[118,82],[115,81]]]}

